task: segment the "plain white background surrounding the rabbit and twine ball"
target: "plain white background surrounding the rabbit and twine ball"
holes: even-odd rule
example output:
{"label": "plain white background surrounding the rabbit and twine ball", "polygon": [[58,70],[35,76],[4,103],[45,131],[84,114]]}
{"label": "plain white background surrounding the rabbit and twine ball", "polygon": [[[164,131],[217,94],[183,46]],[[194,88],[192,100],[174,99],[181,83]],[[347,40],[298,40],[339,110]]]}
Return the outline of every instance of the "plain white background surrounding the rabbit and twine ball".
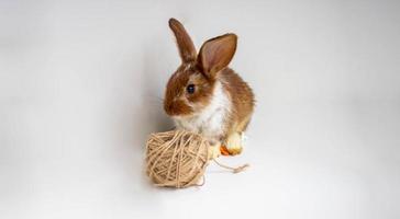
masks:
{"label": "plain white background surrounding the rabbit and twine ball", "polygon": [[[400,218],[398,1],[0,0],[0,218]],[[231,174],[153,187],[169,18],[234,32],[257,107]]]}

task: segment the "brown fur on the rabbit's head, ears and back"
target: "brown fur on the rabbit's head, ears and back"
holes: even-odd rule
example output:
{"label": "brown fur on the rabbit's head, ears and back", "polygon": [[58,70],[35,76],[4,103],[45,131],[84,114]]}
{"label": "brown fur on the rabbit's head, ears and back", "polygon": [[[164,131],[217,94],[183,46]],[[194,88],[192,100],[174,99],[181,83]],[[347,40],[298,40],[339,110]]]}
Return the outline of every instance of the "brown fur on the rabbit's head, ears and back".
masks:
{"label": "brown fur on the rabbit's head, ears and back", "polygon": [[[225,127],[221,140],[244,131],[251,120],[255,100],[248,84],[227,68],[236,50],[236,35],[225,34],[207,41],[196,56],[193,43],[184,26],[175,19],[169,20],[169,26],[177,38],[182,64],[167,83],[164,100],[166,113],[170,116],[201,113],[210,103],[215,82],[220,81],[232,103],[226,124],[221,124]],[[195,84],[193,94],[186,92],[189,84]]]}

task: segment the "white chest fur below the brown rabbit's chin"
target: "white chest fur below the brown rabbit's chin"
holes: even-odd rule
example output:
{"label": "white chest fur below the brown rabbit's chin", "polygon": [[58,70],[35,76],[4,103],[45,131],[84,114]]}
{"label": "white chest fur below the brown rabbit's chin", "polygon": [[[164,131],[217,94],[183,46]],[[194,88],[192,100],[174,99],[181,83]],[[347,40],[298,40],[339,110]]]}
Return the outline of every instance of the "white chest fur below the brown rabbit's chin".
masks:
{"label": "white chest fur below the brown rabbit's chin", "polygon": [[224,131],[225,120],[231,110],[231,102],[220,82],[216,82],[213,96],[205,108],[198,115],[174,117],[178,129],[198,132],[209,138],[218,140]]}

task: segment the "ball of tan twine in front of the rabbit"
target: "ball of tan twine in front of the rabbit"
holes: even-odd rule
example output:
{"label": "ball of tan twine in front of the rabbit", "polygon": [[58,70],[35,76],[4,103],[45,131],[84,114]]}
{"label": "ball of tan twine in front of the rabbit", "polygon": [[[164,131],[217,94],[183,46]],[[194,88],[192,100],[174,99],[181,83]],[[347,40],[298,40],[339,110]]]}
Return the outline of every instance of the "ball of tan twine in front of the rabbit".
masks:
{"label": "ball of tan twine in front of the rabbit", "polygon": [[210,159],[209,142],[185,130],[152,134],[147,141],[146,172],[158,186],[199,185]]}

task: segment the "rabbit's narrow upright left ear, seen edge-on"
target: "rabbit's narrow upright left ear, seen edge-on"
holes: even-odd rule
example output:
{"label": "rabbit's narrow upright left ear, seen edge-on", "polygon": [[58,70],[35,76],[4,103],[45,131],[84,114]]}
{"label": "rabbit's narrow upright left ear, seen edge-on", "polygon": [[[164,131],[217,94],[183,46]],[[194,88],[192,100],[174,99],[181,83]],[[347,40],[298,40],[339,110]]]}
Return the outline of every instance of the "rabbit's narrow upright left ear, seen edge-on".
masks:
{"label": "rabbit's narrow upright left ear, seen edge-on", "polygon": [[186,32],[184,25],[176,19],[169,19],[169,27],[173,30],[177,38],[178,49],[182,62],[190,62],[196,60],[196,48],[189,34]]}

